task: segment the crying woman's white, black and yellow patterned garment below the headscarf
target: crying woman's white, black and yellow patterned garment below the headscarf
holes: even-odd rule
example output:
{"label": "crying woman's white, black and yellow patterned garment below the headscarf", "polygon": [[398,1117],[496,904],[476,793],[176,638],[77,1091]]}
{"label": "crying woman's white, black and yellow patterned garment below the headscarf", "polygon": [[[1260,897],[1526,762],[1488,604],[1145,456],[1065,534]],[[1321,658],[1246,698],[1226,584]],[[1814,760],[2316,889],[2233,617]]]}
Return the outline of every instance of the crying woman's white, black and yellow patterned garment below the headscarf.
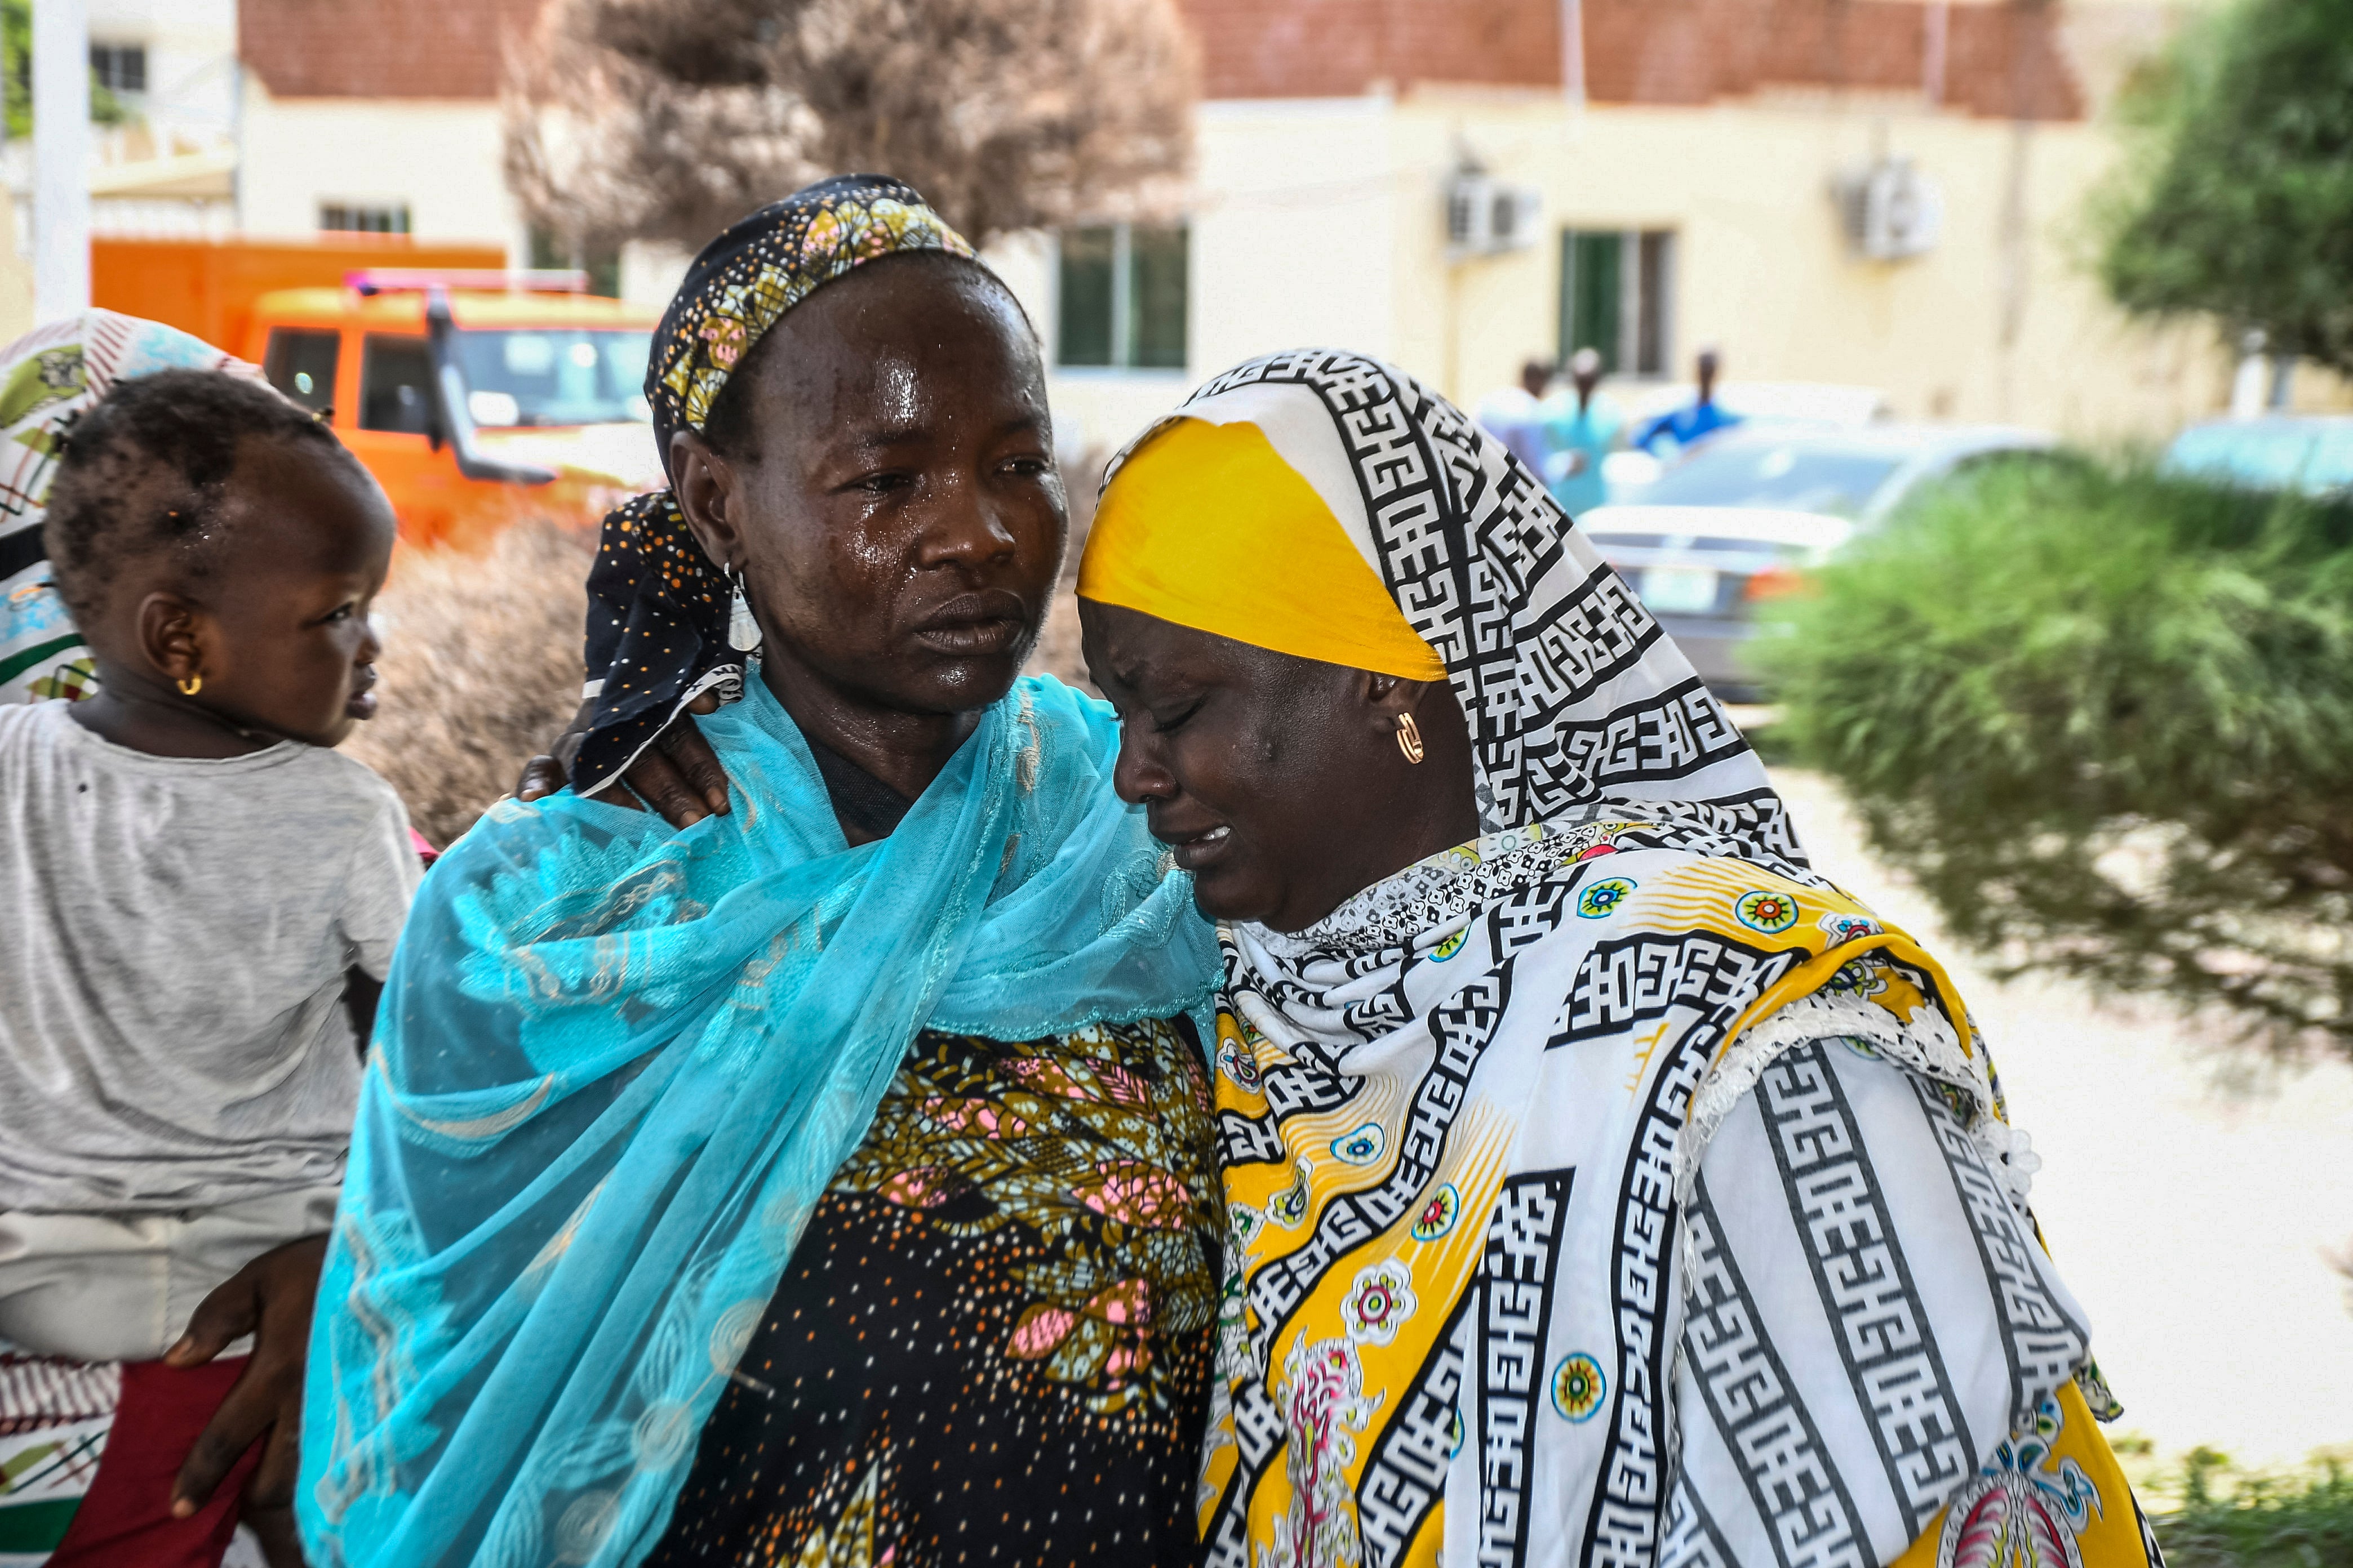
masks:
{"label": "crying woman's white, black and yellow patterned garment below the headscarf", "polygon": [[[1835,889],[1711,842],[1539,823],[1409,867],[1308,959],[1228,933],[1212,1563],[1892,1561],[1939,1537],[2019,1396],[2080,1399],[2080,1312],[1967,1126],[1988,1079],[1913,1067],[1927,1037],[1960,1053],[1951,985]],[[1685,1150],[1727,1044],[1840,976],[1904,1048],[1791,1041]],[[1689,1208],[1680,1161],[1708,1173]],[[1939,1225],[1899,1239],[1897,1187]],[[1711,1190],[1767,1206],[1720,1220]],[[2012,1375],[1965,1382],[1944,1345]],[[2134,1542],[2085,1561],[2141,1568]]]}

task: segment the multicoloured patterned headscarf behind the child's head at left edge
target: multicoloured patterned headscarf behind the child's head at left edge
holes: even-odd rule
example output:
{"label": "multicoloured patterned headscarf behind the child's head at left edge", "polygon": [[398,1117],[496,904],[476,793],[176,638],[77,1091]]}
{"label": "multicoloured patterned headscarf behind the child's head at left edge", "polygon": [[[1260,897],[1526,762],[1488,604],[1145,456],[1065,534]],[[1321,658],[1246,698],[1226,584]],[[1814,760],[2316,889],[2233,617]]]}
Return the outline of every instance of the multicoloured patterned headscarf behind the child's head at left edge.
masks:
{"label": "multicoloured patterned headscarf behind the child's head at left edge", "polygon": [[261,378],[186,331],[113,310],[85,310],[0,348],[0,703],[96,691],[82,635],[49,588],[49,480],[82,409],[118,381],[176,367]]}

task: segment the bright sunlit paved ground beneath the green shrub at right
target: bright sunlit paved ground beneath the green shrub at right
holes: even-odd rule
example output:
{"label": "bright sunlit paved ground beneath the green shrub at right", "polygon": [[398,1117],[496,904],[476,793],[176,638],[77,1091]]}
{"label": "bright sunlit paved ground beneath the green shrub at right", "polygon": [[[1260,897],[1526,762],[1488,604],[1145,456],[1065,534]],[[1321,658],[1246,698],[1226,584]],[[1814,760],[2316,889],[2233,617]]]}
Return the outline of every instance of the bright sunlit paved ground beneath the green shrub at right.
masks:
{"label": "bright sunlit paved ground beneath the green shrub at right", "polygon": [[2353,1443],[2353,1067],[2249,1065],[2148,1006],[1995,985],[1880,870],[1835,788],[1779,769],[1814,863],[1922,936],[1977,1013],[2045,1166],[2035,1215],[2092,1314],[2120,1429],[2240,1462]]}

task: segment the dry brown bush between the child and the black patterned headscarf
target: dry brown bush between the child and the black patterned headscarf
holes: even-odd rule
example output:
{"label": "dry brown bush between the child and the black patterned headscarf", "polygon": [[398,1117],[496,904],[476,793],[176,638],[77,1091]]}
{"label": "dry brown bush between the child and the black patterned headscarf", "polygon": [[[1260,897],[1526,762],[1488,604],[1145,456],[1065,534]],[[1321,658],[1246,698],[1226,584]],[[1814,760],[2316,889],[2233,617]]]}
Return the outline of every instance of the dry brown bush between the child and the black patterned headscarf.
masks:
{"label": "dry brown bush between the child and the black patterned headscarf", "polygon": [[581,701],[595,534],[515,524],[496,543],[402,550],[376,599],[376,717],[344,743],[447,846],[515,788]]}

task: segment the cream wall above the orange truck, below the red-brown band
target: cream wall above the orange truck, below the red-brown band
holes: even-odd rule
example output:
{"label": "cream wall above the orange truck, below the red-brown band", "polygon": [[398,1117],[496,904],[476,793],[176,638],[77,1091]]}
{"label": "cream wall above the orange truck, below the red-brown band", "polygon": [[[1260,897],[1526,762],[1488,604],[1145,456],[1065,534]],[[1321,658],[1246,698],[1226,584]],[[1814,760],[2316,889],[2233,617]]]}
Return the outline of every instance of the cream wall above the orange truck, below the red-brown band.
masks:
{"label": "cream wall above the orange truck, below the red-brown band", "polygon": [[522,263],[499,150],[492,101],[273,99],[247,73],[240,221],[252,235],[315,235],[322,202],[407,205],[416,237],[506,244]]}

